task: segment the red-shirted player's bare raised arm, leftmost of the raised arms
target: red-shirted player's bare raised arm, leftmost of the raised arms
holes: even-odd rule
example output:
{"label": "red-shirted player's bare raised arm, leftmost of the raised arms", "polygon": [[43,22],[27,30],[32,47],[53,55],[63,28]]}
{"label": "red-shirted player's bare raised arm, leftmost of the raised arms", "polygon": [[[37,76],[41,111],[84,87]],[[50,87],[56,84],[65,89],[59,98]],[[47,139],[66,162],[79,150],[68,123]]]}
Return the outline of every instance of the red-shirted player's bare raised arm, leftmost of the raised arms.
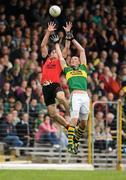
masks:
{"label": "red-shirted player's bare raised arm, leftmost of the raised arms", "polygon": [[55,27],[56,27],[56,24],[54,22],[48,23],[48,29],[47,29],[47,31],[44,35],[44,38],[42,40],[42,43],[41,43],[41,53],[42,53],[43,57],[46,57],[48,55],[47,44],[48,44],[49,36],[50,36],[51,32],[56,30]]}

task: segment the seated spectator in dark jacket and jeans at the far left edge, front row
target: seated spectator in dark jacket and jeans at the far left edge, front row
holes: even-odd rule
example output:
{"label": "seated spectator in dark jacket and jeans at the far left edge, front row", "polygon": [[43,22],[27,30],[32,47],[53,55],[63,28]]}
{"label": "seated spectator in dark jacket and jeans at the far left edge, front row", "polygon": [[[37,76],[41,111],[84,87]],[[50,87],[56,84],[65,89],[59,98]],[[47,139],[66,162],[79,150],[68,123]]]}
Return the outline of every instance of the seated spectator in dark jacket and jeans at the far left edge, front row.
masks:
{"label": "seated spectator in dark jacket and jeans at the far left edge, front row", "polygon": [[0,125],[0,129],[0,137],[3,142],[7,143],[9,146],[23,146],[23,142],[17,136],[16,129],[13,125],[12,113],[6,116],[6,119]]}

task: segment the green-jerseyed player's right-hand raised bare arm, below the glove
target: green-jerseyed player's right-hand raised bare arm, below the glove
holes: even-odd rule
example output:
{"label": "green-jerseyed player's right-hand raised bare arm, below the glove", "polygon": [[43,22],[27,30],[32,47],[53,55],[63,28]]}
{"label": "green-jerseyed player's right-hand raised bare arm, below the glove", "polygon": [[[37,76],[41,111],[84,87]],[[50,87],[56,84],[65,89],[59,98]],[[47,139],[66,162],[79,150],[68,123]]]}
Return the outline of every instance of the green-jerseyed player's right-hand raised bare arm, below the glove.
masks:
{"label": "green-jerseyed player's right-hand raised bare arm, below the glove", "polygon": [[74,44],[74,46],[77,48],[77,50],[80,53],[80,61],[81,64],[85,64],[87,65],[87,59],[86,59],[86,54],[85,54],[85,49],[80,45],[79,42],[77,42],[76,39],[72,40],[72,43]]}

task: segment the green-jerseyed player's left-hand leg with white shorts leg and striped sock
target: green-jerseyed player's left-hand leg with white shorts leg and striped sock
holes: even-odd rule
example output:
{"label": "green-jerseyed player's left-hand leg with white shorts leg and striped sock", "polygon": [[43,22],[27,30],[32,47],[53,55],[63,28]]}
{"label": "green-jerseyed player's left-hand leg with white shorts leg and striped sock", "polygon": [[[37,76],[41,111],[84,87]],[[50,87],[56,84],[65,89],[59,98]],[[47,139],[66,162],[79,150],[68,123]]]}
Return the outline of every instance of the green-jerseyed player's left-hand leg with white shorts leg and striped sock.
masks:
{"label": "green-jerseyed player's left-hand leg with white shorts leg and striped sock", "polygon": [[78,122],[80,110],[80,103],[78,101],[78,94],[72,94],[70,97],[70,126],[68,128],[68,152],[74,153],[74,133]]}

